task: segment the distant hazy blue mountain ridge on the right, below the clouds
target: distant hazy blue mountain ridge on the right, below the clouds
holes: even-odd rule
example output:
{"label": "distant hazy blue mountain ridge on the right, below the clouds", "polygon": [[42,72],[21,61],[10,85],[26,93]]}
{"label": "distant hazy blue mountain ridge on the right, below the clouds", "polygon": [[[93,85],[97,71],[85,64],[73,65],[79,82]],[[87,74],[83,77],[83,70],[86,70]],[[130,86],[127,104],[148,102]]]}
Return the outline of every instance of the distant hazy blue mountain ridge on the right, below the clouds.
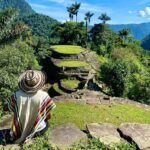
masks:
{"label": "distant hazy blue mountain ridge on the right, below the clouds", "polygon": [[119,31],[125,28],[130,29],[133,36],[138,40],[142,40],[150,33],[150,23],[111,25],[113,31]]}

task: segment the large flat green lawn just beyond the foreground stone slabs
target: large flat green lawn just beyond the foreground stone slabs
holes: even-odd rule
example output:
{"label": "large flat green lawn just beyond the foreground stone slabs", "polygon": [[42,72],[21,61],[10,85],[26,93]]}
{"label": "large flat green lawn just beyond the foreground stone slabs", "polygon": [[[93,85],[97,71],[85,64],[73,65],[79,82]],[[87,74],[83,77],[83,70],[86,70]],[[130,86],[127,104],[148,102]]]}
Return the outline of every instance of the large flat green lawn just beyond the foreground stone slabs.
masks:
{"label": "large flat green lawn just beyond the foreground stone slabs", "polygon": [[129,104],[84,105],[79,103],[58,103],[53,111],[51,125],[53,127],[66,123],[74,123],[84,129],[87,123],[148,123],[150,112]]}

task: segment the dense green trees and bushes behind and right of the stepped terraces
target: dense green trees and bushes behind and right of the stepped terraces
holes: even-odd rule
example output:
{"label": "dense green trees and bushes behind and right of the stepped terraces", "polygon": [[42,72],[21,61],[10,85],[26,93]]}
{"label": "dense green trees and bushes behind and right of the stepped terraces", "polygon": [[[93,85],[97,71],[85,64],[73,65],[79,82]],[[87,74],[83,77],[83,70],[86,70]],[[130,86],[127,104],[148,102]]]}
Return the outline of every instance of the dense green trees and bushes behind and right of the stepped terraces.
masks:
{"label": "dense green trees and bushes behind and right of the stepped terraces", "polygon": [[[74,16],[74,12],[69,13]],[[85,24],[71,21],[57,25],[55,36],[60,38],[59,44],[80,45],[99,55],[101,67],[97,78],[108,95],[150,104],[149,54],[130,29],[115,33],[106,24],[111,19],[107,14],[101,14],[99,19],[102,23],[95,24],[91,30],[87,20]]]}

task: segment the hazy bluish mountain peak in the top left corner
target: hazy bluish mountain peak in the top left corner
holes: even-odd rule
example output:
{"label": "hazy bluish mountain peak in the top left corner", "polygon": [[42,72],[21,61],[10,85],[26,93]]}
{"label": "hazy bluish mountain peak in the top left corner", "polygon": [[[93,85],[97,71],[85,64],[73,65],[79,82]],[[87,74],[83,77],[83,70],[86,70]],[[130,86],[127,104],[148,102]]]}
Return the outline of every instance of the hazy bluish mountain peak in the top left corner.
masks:
{"label": "hazy bluish mountain peak in the top left corner", "polygon": [[0,0],[0,10],[10,7],[18,9],[20,17],[35,13],[25,0]]}

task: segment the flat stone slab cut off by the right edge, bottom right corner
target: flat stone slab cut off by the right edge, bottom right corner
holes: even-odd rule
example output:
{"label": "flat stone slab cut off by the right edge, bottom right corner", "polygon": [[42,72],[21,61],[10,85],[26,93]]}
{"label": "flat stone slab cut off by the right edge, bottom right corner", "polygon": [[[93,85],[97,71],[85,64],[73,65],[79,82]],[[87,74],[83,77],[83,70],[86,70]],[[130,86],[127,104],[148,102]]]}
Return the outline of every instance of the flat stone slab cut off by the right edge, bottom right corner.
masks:
{"label": "flat stone slab cut off by the right edge, bottom right corner", "polygon": [[150,150],[150,124],[122,124],[119,127],[124,137],[134,141],[139,149]]}

